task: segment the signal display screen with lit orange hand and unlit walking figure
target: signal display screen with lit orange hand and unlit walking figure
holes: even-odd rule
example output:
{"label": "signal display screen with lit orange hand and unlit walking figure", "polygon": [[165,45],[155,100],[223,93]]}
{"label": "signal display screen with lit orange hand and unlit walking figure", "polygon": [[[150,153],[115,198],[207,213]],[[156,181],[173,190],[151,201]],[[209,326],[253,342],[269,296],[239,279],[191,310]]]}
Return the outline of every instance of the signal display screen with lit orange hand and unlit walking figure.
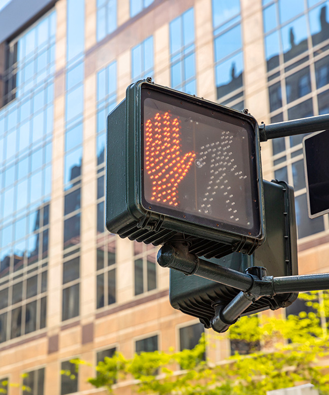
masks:
{"label": "signal display screen with lit orange hand and unlit walking figure", "polygon": [[146,209],[260,233],[255,132],[249,122],[143,89],[142,135]]}

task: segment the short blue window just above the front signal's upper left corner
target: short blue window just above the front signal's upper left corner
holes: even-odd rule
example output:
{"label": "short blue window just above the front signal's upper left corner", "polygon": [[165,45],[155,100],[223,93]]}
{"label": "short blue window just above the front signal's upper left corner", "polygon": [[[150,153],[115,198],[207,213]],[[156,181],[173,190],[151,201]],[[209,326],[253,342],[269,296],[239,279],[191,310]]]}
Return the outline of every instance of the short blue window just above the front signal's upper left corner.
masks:
{"label": "short blue window just above the front signal's upper left corner", "polygon": [[132,81],[153,77],[153,37],[132,49]]}

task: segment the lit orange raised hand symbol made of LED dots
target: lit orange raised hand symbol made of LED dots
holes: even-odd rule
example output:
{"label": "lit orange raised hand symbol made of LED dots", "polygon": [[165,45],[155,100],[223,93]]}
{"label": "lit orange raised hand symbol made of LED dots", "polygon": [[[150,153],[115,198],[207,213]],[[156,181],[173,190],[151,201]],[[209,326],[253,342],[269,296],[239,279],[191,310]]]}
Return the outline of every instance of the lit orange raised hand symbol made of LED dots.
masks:
{"label": "lit orange raised hand symbol made of LED dots", "polygon": [[157,113],[145,124],[145,165],[152,181],[154,202],[177,206],[178,185],[188,173],[195,152],[182,154],[180,120],[170,112]]}

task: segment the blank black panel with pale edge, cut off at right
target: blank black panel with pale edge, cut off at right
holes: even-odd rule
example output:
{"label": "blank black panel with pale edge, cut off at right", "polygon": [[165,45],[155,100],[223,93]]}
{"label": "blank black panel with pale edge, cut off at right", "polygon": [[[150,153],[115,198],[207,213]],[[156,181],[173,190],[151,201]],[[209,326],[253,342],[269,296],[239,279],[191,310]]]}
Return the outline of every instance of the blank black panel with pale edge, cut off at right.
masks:
{"label": "blank black panel with pale edge, cut off at right", "polygon": [[329,130],[303,140],[309,217],[329,212]]}

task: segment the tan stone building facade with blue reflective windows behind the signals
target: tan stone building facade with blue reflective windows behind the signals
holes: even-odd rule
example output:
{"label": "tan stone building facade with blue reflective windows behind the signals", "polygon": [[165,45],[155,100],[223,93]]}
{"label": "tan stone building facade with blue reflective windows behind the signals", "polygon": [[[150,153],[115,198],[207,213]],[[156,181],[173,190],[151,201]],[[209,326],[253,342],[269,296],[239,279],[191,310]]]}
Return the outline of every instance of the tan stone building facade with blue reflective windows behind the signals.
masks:
{"label": "tan stone building facade with blue reflective windows behind the signals", "polygon": [[[92,394],[99,390],[86,378],[115,350],[189,348],[203,331],[170,306],[157,248],[104,228],[106,115],[147,76],[248,108],[259,123],[327,113],[329,2],[0,7],[0,389]],[[328,272],[328,215],[307,216],[301,142],[263,143],[263,176],[295,188],[299,272]],[[230,354],[224,336],[212,342],[214,362]],[[76,357],[89,365],[71,380],[61,370],[73,372]],[[127,383],[117,386],[129,393]]]}

